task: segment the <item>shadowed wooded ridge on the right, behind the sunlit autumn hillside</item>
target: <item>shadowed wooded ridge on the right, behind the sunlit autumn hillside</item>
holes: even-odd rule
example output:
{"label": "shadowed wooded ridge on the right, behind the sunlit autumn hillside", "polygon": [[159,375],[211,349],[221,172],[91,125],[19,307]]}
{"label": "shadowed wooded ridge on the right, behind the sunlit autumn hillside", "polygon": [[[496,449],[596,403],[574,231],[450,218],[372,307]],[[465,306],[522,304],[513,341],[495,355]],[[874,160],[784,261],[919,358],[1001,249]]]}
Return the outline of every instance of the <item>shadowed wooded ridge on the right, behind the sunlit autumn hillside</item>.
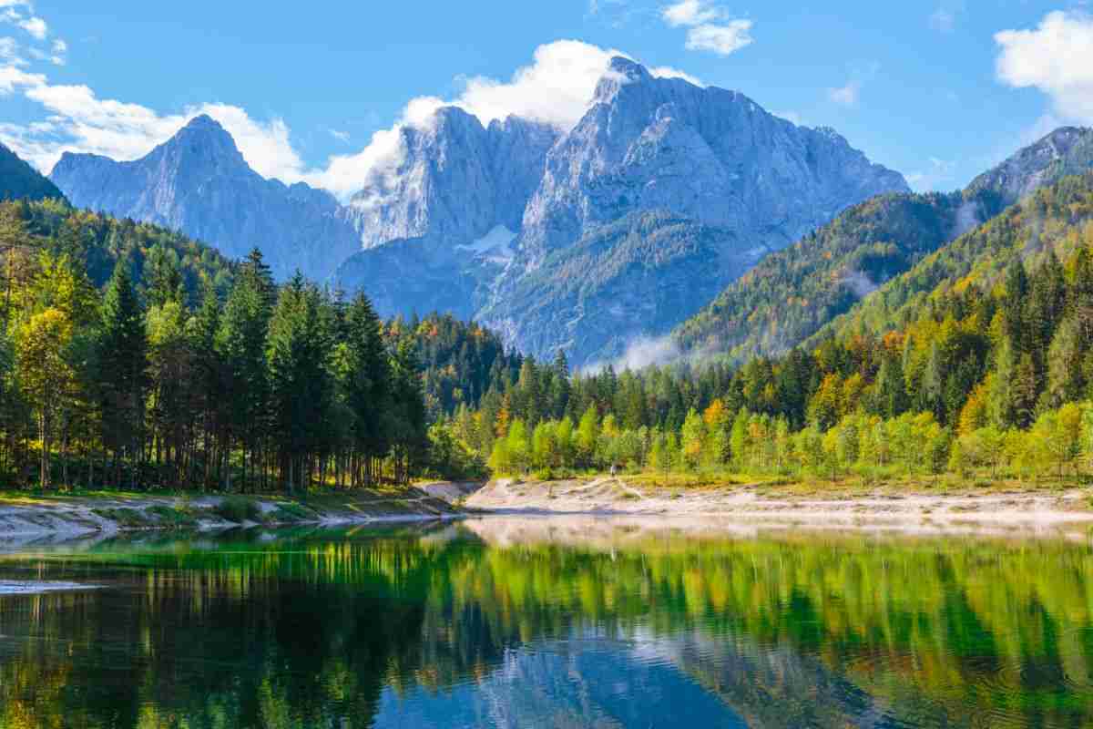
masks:
{"label": "shadowed wooded ridge on the right, behind the sunlit autumn hillside", "polygon": [[776,355],[850,311],[1008,205],[1093,167],[1093,130],[1066,127],[976,177],[962,192],[886,195],[765,257],[674,332],[683,351]]}

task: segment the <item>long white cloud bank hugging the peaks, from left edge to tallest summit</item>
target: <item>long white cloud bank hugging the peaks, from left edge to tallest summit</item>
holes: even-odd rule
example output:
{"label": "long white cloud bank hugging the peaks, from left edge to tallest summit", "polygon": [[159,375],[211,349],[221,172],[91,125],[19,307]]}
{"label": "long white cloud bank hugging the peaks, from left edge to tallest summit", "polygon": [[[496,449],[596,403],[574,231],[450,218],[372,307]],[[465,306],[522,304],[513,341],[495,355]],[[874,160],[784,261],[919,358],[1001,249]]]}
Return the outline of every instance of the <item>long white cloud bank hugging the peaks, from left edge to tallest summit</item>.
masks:
{"label": "long white cloud bank hugging the peaks, from left edge to tallest summit", "polygon": [[[383,180],[391,174],[402,158],[402,129],[428,128],[436,109],[444,105],[458,106],[482,124],[518,115],[563,130],[572,128],[587,110],[596,84],[614,56],[625,54],[577,40],[540,46],[532,62],[517,69],[508,81],[459,79],[462,92],[454,99],[411,99],[392,128],[375,132],[363,150],[333,155],[319,168],[304,163],[282,119],[260,121],[238,106],[219,103],[164,115],[140,104],[99,98],[86,85],[51,84],[46,75],[28,73],[9,62],[0,66],[0,95],[19,91],[39,104],[48,116],[32,125],[0,124],[0,140],[39,169],[48,171],[66,151],[138,158],[169,139],[193,116],[208,114],[232,134],[244,158],[260,175],[285,183],[304,180],[345,199],[366,181]],[[650,72],[698,83],[668,67]],[[336,132],[331,130],[338,137]]]}

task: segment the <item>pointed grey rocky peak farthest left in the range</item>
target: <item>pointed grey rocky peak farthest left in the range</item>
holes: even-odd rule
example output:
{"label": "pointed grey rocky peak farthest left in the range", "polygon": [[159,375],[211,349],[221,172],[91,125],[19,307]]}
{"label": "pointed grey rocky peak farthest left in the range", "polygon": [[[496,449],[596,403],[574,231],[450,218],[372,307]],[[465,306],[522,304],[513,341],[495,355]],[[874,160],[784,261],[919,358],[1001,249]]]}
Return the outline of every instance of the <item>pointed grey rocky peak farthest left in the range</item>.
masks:
{"label": "pointed grey rocky peak farthest left in the range", "polygon": [[178,230],[232,258],[258,246],[279,279],[297,268],[325,279],[360,247],[333,196],[265,179],[208,116],[132,162],[66,153],[50,178],[73,205]]}

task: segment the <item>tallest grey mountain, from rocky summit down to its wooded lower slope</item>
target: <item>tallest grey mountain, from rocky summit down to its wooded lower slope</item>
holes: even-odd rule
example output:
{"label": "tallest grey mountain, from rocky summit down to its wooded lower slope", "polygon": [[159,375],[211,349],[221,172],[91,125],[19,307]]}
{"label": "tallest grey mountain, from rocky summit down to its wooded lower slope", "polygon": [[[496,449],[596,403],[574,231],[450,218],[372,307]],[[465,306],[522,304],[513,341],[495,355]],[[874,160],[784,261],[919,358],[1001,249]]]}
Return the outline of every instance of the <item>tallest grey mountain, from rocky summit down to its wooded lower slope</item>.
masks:
{"label": "tallest grey mountain, from rocky summit down to its wooded lower slope", "polygon": [[907,189],[830,129],[616,58],[548,152],[514,260],[479,316],[529,354],[562,348],[578,366],[618,357],[764,254],[847,205]]}

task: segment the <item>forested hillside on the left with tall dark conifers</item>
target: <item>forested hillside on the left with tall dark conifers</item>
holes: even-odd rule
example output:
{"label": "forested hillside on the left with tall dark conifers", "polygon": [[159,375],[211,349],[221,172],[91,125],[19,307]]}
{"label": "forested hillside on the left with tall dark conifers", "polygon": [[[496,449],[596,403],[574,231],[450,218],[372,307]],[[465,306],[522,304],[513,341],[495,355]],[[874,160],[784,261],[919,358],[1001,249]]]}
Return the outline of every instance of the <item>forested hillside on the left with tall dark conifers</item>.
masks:
{"label": "forested hillside on the left with tall dark conifers", "polygon": [[10,484],[292,492],[466,474],[481,466],[462,451],[433,459],[450,439],[431,442],[430,423],[519,366],[474,325],[384,324],[363,295],[274,284],[257,250],[232,263],[59,201],[0,204],[0,239]]}

